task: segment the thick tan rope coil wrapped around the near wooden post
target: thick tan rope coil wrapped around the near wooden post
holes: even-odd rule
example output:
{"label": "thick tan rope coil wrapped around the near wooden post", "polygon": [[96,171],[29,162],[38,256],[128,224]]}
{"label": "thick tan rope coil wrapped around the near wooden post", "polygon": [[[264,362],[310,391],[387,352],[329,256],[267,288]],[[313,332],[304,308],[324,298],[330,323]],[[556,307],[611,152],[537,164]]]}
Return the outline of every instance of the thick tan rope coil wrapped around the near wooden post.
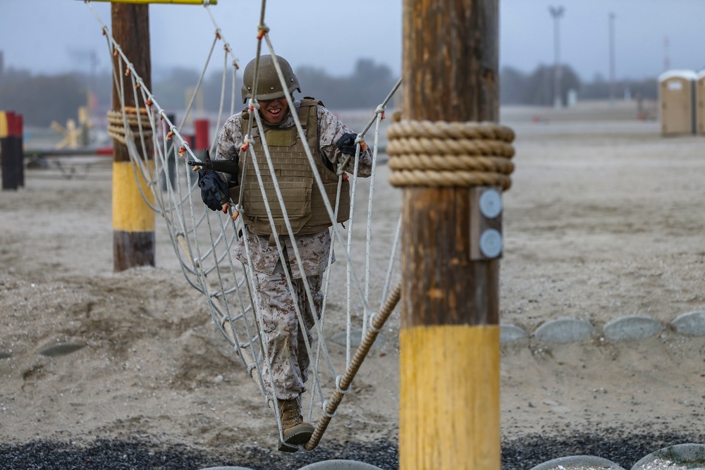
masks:
{"label": "thick tan rope coil wrapped around the near wooden post", "polygon": [[514,131],[495,123],[400,120],[387,131],[389,183],[397,187],[501,186],[514,171]]}

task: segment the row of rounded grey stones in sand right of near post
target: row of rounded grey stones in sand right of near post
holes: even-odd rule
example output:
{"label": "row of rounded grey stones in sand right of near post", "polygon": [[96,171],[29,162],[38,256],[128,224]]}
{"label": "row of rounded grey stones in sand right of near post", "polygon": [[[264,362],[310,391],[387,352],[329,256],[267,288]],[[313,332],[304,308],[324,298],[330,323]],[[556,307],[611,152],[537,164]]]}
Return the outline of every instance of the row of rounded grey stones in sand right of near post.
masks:
{"label": "row of rounded grey stones in sand right of near post", "polygon": [[[691,311],[668,323],[676,333],[686,336],[705,336],[705,311]],[[506,344],[536,338],[541,342],[567,343],[591,338],[596,328],[586,320],[555,319],[541,324],[533,333],[520,326],[505,323],[500,326],[500,342]],[[658,335],[666,325],[650,316],[630,315],[613,320],[602,328],[604,338],[612,341],[635,341]]]}

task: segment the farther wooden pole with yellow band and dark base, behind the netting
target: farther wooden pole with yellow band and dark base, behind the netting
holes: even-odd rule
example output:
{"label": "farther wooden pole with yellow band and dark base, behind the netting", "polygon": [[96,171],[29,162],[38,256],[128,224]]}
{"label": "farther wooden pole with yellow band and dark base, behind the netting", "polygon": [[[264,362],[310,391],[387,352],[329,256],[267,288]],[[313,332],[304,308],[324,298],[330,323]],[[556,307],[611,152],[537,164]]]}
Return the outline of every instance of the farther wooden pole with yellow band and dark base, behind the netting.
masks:
{"label": "farther wooden pole with yellow band and dark base, behind the netting", "polygon": [[[149,56],[149,5],[112,4],[111,21],[113,37],[135,66],[135,72],[142,77],[145,86],[152,88],[152,64]],[[119,56],[114,58],[121,60]],[[116,70],[119,70],[116,68]],[[123,67],[123,72],[125,68]],[[125,80],[125,106],[140,107],[135,104],[131,79]],[[121,111],[120,90],[113,84],[113,109]],[[137,149],[142,144],[137,140]],[[153,147],[147,142],[145,159],[154,165]],[[133,163],[130,162],[128,148],[120,142],[114,142],[113,149],[113,264],[114,271],[123,271],[134,266],[154,266],[154,211],[142,198],[140,187],[145,196],[152,198],[139,169],[140,178],[135,179]],[[153,202],[153,201],[152,201]]]}

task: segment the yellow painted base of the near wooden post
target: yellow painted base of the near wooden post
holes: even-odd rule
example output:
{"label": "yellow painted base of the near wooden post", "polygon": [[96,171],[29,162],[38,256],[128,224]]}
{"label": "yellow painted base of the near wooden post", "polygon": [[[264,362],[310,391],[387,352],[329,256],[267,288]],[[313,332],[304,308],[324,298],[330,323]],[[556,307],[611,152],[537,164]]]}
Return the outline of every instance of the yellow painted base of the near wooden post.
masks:
{"label": "yellow painted base of the near wooden post", "polygon": [[405,328],[400,361],[400,470],[499,470],[499,326]]}

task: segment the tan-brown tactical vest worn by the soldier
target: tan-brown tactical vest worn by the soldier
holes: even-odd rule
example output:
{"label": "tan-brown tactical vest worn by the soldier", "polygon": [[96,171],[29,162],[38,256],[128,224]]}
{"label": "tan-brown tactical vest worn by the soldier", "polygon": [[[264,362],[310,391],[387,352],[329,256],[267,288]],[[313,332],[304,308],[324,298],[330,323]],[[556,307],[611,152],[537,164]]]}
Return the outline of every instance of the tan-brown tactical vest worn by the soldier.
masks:
{"label": "tan-brown tactical vest worn by the soldier", "polygon": [[[326,194],[334,210],[336,207],[336,192],[338,190],[338,175],[333,171],[333,168],[326,166],[323,161],[324,157],[318,153],[317,104],[319,104],[319,101],[314,99],[302,100],[299,109],[299,120],[306,133],[307,144],[312,151]],[[276,196],[269,166],[266,164],[266,159],[264,159],[262,133],[264,133],[267,147],[269,147],[269,155],[276,172],[278,186],[286,205],[286,212],[293,232],[297,235],[306,235],[318,233],[329,228],[332,225],[331,218],[328,215],[324,199],[321,197],[321,192],[314,179],[314,173],[306,156],[305,144],[299,139],[296,127],[269,128],[265,126],[263,130],[253,128],[254,150],[258,157],[261,156],[257,159],[257,163],[259,164],[266,198],[269,201],[269,209],[274,218],[278,235],[286,234],[286,224]],[[255,173],[252,161],[247,164],[243,184],[245,184],[245,195],[243,197],[245,213],[243,214],[243,221],[252,233],[271,235],[271,225],[269,218],[267,218],[262,190],[259,188],[257,173]],[[345,222],[348,218],[350,218],[350,185],[348,181],[343,181],[337,220],[338,222]]]}

